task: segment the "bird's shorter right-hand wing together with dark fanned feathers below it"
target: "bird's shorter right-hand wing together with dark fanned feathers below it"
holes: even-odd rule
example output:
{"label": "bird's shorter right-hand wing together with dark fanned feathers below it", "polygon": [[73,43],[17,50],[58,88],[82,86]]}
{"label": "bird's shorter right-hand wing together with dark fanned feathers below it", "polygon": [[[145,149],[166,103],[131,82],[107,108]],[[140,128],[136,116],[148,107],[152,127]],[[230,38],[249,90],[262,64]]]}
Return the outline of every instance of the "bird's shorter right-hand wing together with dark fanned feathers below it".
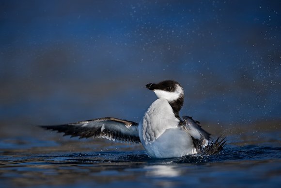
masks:
{"label": "bird's shorter right-hand wing together with dark fanned feathers below it", "polygon": [[199,121],[193,120],[192,117],[183,116],[183,122],[179,125],[184,131],[189,134],[193,140],[193,145],[197,153],[217,154],[226,145],[225,138],[218,139],[209,143],[211,134],[203,130]]}

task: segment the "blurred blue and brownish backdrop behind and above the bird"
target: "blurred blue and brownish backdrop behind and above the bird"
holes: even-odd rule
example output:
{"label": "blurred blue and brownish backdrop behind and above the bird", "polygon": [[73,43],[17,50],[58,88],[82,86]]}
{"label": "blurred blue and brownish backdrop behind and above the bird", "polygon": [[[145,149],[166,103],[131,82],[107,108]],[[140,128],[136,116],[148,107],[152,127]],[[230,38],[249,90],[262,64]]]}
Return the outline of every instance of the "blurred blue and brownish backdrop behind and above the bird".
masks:
{"label": "blurred blue and brownish backdrop behind and above the bird", "polygon": [[280,0],[1,0],[0,136],[138,122],[156,100],[144,85],[166,79],[211,133],[280,129],[280,14]]}

